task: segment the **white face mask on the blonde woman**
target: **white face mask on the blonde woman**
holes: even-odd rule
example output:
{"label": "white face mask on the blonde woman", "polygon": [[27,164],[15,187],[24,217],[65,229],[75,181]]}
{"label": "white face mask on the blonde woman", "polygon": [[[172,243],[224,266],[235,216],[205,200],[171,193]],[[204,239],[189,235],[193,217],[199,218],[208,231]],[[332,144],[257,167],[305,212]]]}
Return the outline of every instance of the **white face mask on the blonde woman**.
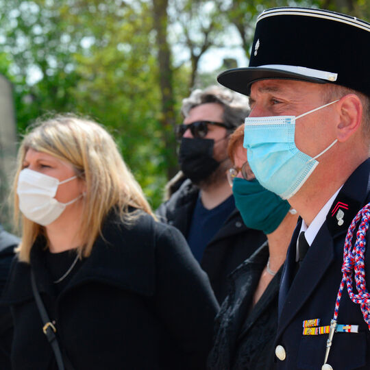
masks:
{"label": "white face mask on the blonde woman", "polygon": [[44,175],[43,173],[30,169],[23,169],[19,173],[16,193],[19,197],[19,209],[27,219],[46,226],[56,221],[66,206],[73,204],[77,198],[67,203],[60,203],[54,197],[60,184],[69,182],[77,176],[59,181],[56,177]]}

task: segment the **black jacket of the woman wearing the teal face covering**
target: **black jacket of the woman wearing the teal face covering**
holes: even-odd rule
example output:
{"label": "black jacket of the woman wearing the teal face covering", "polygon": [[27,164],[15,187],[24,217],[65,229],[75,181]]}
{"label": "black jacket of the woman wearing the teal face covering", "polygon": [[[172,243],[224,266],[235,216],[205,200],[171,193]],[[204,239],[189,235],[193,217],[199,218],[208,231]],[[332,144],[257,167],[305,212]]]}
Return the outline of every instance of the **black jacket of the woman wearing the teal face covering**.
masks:
{"label": "black jacket of the woman wearing the teal face covering", "polygon": [[264,243],[230,274],[230,291],[215,320],[210,370],[270,370],[277,328],[277,295],[282,269],[251,308],[262,270],[269,258]]}

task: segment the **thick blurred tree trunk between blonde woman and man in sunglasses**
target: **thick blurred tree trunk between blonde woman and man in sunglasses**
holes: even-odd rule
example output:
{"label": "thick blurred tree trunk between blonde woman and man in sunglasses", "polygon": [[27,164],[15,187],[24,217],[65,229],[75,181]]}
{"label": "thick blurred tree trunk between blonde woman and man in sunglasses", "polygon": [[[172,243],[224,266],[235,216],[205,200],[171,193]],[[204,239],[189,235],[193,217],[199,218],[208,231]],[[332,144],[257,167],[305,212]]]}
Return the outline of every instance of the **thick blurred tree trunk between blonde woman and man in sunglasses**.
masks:
{"label": "thick blurred tree trunk between blonde woman and man in sunglasses", "polygon": [[171,66],[171,49],[167,42],[167,6],[168,0],[153,0],[153,19],[156,29],[158,47],[159,82],[162,95],[162,125],[163,139],[166,145],[164,160],[167,164],[167,177],[170,179],[177,172],[175,127],[175,97],[173,92],[173,69]]}

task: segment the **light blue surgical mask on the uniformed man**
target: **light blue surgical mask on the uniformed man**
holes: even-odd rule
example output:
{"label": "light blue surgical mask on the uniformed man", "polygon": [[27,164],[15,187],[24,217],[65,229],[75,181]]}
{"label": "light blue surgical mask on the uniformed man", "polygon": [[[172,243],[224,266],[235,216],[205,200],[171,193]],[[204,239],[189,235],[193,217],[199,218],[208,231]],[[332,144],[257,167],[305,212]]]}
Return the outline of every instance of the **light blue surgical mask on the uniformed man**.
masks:
{"label": "light blue surgical mask on the uniformed man", "polygon": [[297,117],[269,116],[245,119],[244,147],[247,148],[249,166],[264,188],[282,199],[289,199],[297,193],[319,164],[316,159],[338,140],[334,140],[312,158],[295,146],[295,121],[336,101]]}

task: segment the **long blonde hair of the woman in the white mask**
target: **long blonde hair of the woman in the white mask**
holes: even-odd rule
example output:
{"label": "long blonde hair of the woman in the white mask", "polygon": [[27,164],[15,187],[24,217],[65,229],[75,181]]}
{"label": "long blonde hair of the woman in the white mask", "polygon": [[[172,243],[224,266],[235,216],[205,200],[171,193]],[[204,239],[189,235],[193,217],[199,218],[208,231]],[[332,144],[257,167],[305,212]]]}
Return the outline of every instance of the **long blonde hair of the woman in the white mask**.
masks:
{"label": "long blonde hair of the woman in the white mask", "polygon": [[[80,256],[90,256],[91,249],[101,233],[101,225],[108,212],[114,208],[122,221],[130,224],[137,212],[129,207],[144,210],[153,216],[143,190],[127,168],[114,140],[98,123],[71,115],[54,116],[36,123],[25,135],[18,150],[16,175],[14,177],[14,219],[21,224],[22,240],[18,258],[29,262],[34,241],[45,228],[20,217],[16,186],[28,149],[34,149],[69,162],[77,177],[86,182],[84,210],[79,236],[86,242],[79,247]],[[20,222],[21,219],[21,222]]]}

